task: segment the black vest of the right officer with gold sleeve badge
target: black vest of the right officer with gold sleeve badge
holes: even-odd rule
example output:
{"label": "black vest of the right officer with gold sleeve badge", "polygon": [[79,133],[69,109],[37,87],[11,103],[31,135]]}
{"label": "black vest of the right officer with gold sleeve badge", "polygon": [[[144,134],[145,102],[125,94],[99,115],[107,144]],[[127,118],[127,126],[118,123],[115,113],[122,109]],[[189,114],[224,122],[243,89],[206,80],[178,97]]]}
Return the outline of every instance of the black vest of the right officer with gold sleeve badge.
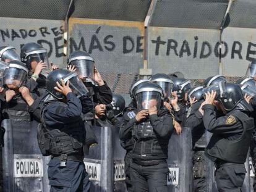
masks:
{"label": "black vest of the right officer with gold sleeve badge", "polygon": [[213,133],[205,151],[211,161],[217,159],[234,163],[244,163],[246,161],[252,131],[254,130],[253,120],[241,111],[236,111],[232,115],[239,119],[244,131],[237,140],[227,140],[221,135]]}

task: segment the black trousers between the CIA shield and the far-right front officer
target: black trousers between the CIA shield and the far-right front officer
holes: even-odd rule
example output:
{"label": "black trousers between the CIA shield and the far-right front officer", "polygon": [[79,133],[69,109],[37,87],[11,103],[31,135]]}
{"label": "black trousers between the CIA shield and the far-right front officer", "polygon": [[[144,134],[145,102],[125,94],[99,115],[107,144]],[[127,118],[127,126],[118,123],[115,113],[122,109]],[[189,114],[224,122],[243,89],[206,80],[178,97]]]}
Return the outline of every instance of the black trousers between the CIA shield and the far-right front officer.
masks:
{"label": "black trousers between the CIA shield and the far-right front officer", "polygon": [[207,161],[204,151],[194,151],[193,154],[193,191],[207,191],[206,180]]}

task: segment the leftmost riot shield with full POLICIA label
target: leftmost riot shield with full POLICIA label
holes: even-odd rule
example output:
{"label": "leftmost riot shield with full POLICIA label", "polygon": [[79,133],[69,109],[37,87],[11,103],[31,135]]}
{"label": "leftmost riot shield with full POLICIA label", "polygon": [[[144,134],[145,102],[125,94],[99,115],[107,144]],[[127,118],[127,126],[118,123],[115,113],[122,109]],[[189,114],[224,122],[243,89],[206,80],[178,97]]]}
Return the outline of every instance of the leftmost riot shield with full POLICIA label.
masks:
{"label": "leftmost riot shield with full POLICIA label", "polygon": [[41,155],[36,138],[38,123],[3,120],[2,127],[4,191],[49,191],[48,159]]}

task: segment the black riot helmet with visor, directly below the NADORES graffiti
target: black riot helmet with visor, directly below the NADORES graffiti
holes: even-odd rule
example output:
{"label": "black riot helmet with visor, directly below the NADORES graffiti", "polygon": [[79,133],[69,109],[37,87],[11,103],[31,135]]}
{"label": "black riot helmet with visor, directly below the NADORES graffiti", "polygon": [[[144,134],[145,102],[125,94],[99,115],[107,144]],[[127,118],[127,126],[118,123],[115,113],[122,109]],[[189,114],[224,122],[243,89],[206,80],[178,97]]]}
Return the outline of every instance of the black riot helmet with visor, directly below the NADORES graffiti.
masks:
{"label": "black riot helmet with visor, directly below the NADORES graffiti", "polygon": [[40,61],[45,62],[47,69],[42,70],[41,74],[47,76],[46,71],[49,70],[48,52],[41,44],[24,44],[20,49],[20,60],[25,62],[29,70],[32,69],[32,65],[37,65]]}

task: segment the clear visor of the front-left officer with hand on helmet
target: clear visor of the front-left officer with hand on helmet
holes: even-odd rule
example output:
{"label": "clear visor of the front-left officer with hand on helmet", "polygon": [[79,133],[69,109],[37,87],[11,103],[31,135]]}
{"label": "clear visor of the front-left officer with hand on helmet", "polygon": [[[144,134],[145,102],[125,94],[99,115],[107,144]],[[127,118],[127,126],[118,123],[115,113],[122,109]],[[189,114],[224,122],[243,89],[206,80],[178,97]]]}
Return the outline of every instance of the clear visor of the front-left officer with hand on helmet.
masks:
{"label": "clear visor of the front-left officer with hand on helmet", "polygon": [[88,94],[86,86],[77,77],[77,73],[69,73],[68,75],[66,75],[66,77],[63,77],[62,79],[64,80],[65,84],[69,80],[69,87],[72,90],[72,93],[74,93],[77,96],[77,98],[80,98]]}

